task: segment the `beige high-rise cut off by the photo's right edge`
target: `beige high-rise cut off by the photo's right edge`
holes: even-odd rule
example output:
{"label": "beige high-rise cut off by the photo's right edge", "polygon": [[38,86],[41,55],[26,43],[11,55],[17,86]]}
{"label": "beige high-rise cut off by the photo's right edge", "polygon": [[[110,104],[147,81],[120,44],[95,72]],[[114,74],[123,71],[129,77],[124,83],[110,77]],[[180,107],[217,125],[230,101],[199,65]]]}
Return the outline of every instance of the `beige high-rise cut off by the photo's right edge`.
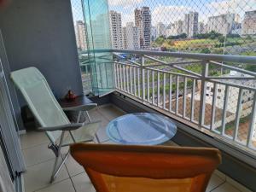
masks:
{"label": "beige high-rise cut off by the photo's right edge", "polygon": [[256,35],[256,10],[245,12],[241,28],[242,35]]}

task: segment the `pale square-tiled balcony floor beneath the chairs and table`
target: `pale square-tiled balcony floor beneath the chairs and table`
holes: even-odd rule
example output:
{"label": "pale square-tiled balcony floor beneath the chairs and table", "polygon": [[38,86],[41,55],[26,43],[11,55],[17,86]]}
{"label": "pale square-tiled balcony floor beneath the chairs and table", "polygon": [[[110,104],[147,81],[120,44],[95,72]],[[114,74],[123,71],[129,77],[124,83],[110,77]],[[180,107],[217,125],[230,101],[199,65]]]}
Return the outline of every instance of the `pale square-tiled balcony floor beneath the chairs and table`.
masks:
{"label": "pale square-tiled balcony floor beneath the chairs and table", "polygon": [[[111,143],[105,133],[108,122],[124,114],[115,106],[104,106],[90,112],[94,120],[101,120],[101,129],[97,135],[101,143]],[[95,192],[89,177],[82,166],[68,157],[65,166],[55,179],[49,183],[49,176],[54,163],[54,154],[47,148],[48,138],[43,132],[29,131],[21,136],[21,147],[26,160],[27,170],[24,173],[24,185],[26,192]],[[175,143],[167,143],[175,144]],[[63,148],[63,154],[67,148]],[[221,172],[212,175],[207,192],[247,192],[249,190],[242,187]]]}

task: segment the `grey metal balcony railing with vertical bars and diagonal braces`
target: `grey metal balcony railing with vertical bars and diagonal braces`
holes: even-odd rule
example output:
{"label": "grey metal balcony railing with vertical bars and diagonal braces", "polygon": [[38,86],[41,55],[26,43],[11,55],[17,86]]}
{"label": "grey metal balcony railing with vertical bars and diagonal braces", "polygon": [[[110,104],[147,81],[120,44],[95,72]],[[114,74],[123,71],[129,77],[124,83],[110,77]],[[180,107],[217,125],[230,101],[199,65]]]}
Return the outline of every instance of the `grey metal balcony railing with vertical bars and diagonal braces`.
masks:
{"label": "grey metal balcony railing with vertical bars and diagonal braces", "polygon": [[113,49],[115,89],[256,150],[256,57]]}

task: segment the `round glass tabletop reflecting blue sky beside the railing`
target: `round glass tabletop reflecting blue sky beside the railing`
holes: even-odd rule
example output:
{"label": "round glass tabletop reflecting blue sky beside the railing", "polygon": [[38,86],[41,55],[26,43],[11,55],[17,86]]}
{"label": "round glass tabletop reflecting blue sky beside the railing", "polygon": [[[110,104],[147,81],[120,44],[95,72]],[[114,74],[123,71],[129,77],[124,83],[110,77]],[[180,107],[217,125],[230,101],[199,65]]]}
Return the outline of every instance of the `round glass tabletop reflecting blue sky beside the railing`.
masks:
{"label": "round glass tabletop reflecting blue sky beside the railing", "polygon": [[156,113],[130,113],[113,119],[107,126],[108,137],[114,143],[157,145],[172,139],[177,126]]}

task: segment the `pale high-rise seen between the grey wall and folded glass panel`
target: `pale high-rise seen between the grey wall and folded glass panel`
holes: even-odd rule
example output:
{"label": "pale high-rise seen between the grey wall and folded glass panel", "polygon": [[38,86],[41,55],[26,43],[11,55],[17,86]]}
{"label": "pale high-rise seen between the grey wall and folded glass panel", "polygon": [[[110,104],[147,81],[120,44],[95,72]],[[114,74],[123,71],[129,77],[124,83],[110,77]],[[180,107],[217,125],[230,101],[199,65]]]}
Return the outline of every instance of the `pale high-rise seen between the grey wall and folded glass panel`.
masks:
{"label": "pale high-rise seen between the grey wall and folded glass panel", "polygon": [[87,49],[85,25],[84,25],[84,21],[82,20],[77,20],[76,22],[76,41],[77,41],[78,49],[80,50]]}

